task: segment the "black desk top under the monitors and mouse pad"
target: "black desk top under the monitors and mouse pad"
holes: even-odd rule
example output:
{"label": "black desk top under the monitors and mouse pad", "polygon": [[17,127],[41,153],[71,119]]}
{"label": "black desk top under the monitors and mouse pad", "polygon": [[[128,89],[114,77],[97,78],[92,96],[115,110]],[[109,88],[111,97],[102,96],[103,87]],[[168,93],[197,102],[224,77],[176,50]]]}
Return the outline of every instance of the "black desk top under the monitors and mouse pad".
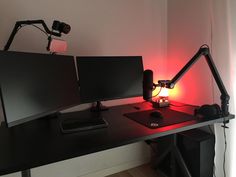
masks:
{"label": "black desk top under the monitors and mouse pad", "polygon": [[[170,106],[193,114],[194,106]],[[181,131],[199,128],[214,123],[222,123],[234,118],[227,117],[200,120],[195,119],[162,128],[149,129],[123,114],[151,109],[149,103],[137,103],[110,107],[102,112],[108,128],[62,134],[60,120],[47,117],[12,128],[0,127],[0,175],[22,171],[22,176],[30,176],[31,168],[79,157],[82,155],[115,148],[130,143],[176,134]],[[86,116],[86,111],[78,112],[78,118]]]}

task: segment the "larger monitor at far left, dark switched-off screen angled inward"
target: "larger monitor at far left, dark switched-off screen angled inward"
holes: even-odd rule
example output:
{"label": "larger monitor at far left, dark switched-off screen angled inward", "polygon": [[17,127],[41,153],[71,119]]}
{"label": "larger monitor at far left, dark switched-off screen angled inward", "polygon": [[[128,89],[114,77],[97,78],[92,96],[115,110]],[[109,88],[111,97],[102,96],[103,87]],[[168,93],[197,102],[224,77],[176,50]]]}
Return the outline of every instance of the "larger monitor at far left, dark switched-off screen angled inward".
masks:
{"label": "larger monitor at far left, dark switched-off screen angled inward", "polygon": [[0,51],[0,87],[9,127],[79,102],[72,56]]}

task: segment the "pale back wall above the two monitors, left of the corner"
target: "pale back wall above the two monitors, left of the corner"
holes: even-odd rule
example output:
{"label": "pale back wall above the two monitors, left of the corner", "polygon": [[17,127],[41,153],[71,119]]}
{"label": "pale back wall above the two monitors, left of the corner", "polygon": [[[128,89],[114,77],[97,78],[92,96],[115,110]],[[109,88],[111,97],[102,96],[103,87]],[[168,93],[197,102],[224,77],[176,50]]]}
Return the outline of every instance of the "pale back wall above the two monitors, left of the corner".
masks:
{"label": "pale back wall above the two monitors, left of the corner", "polygon": [[[162,64],[166,49],[164,0],[2,0],[0,3],[1,47],[17,20],[44,19],[50,27],[54,19],[59,19],[72,27],[64,37],[69,43],[68,54],[142,55],[145,67],[162,73],[163,67],[154,61]],[[19,31],[11,50],[45,52],[46,43],[44,34],[29,26]]]}

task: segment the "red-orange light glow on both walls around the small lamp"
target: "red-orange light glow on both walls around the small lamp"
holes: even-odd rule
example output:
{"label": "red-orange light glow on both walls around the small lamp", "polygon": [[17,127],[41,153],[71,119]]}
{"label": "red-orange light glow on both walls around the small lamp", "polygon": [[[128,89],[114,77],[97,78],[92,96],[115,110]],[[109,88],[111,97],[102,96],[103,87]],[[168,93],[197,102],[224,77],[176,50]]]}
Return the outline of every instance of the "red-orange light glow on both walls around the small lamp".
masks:
{"label": "red-orange light glow on both walls around the small lamp", "polygon": [[[170,50],[165,62],[152,57],[145,69],[153,70],[153,81],[171,80],[192,58],[195,49],[178,48]],[[153,59],[155,58],[155,59]],[[162,62],[161,62],[162,61]],[[209,67],[204,58],[197,61],[175,84],[173,89],[168,90],[168,99],[188,104],[203,104],[212,102],[212,80]],[[153,91],[154,99],[158,99],[160,87]],[[163,93],[160,93],[161,95]],[[164,93],[165,95],[165,93]]]}

